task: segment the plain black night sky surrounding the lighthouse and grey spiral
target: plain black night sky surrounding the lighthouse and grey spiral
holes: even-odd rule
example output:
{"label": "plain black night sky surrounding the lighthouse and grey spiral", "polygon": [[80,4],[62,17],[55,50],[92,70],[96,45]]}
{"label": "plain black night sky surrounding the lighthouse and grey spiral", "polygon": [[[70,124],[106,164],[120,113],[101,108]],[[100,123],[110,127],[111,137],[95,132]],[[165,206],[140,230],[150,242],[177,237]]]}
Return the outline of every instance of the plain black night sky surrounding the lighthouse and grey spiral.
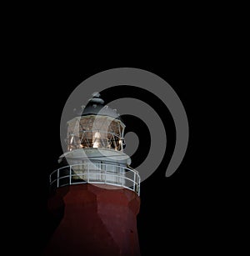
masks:
{"label": "plain black night sky surrounding the lighthouse and grey spiral", "polygon": [[101,9],[99,16],[95,8],[77,13],[68,4],[66,12],[58,5],[20,5],[2,18],[1,228],[7,253],[40,255],[56,226],[47,214],[48,175],[62,153],[60,117],[68,96],[95,73],[129,67],[165,79],[181,98],[190,128],[187,153],[173,176],[165,178],[165,158],[142,183],[142,255],[244,254],[248,165],[233,166],[238,153],[237,163],[248,153],[233,144],[248,145],[242,133],[248,115],[239,118],[242,109],[236,110],[244,68],[236,73],[243,62],[234,59],[246,56],[243,8],[150,4],[148,11],[130,5],[111,15]]}

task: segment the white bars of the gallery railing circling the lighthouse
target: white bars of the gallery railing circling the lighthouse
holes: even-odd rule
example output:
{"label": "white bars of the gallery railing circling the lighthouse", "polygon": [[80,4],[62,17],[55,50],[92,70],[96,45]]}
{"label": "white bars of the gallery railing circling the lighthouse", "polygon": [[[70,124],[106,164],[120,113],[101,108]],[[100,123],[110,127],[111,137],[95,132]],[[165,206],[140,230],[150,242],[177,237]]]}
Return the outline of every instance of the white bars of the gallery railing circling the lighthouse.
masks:
{"label": "white bars of the gallery railing circling the lighthouse", "polygon": [[[97,165],[98,166],[97,166]],[[81,170],[77,170],[77,172],[80,173],[72,173],[72,170],[74,167],[83,167],[83,169]],[[84,167],[87,166],[87,169],[84,169]],[[102,167],[105,167],[105,169],[102,169]],[[117,168],[117,173],[107,173],[108,169],[107,167],[115,167]],[[68,169],[69,173],[63,174],[62,176],[60,176],[60,172],[63,169]],[[99,171],[99,172],[91,172],[91,171]],[[119,170],[119,172],[118,172]],[[122,173],[120,173],[120,171],[122,170]],[[81,173],[82,171],[82,173]],[[85,172],[84,172],[85,171]],[[87,172],[86,172],[87,171]],[[52,175],[57,173],[55,176],[55,178],[52,178]],[[126,177],[126,175],[128,175],[128,173],[133,173],[133,178],[128,178]],[[96,180],[89,180],[91,175],[102,175],[102,179],[103,180],[99,180],[98,178],[96,178]],[[77,177],[77,176],[83,176],[84,175],[84,179],[82,179],[82,181],[74,181],[74,179],[72,180],[72,178]],[[116,182],[112,182],[111,180],[108,180],[108,178],[113,177],[113,178],[118,178],[119,181]],[[69,182],[66,184],[60,184],[60,180],[62,180],[63,178],[69,178]],[[100,177],[99,177],[100,178]],[[122,179],[122,181],[121,181]],[[88,162],[88,163],[75,163],[75,164],[70,164],[67,166],[63,166],[61,168],[57,168],[56,170],[54,170],[50,175],[49,175],[49,182],[50,185],[52,186],[53,183],[57,183],[57,188],[65,186],[65,185],[73,185],[73,184],[79,184],[79,183],[103,183],[103,184],[110,184],[113,186],[117,186],[117,187],[122,187],[122,188],[128,188],[132,191],[134,191],[135,193],[138,193],[138,195],[140,195],[140,176],[138,174],[138,171],[134,170],[133,168],[128,168],[126,166],[122,166],[122,165],[116,165],[116,164],[111,164],[111,163],[100,163],[98,161],[92,161],[92,162]],[[126,185],[126,181],[131,182],[132,185],[128,186]]]}

